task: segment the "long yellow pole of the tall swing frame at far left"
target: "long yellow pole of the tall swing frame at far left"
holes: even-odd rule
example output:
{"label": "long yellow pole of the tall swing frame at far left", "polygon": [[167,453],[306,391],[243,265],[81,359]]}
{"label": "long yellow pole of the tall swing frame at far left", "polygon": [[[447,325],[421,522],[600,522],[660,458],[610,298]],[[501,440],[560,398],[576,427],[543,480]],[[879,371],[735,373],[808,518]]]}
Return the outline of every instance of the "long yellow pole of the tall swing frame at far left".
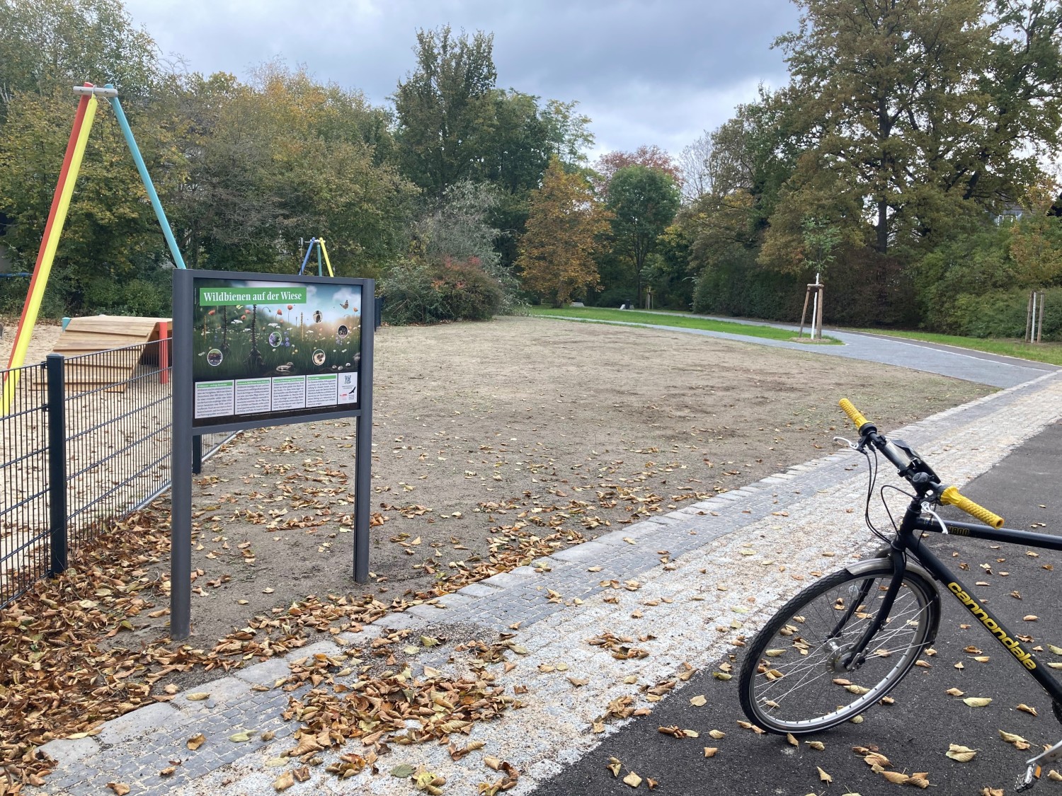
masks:
{"label": "long yellow pole of the tall swing frame at far left", "polygon": [[[52,273],[55,250],[59,245],[59,237],[63,233],[63,226],[66,224],[67,212],[70,210],[70,198],[73,195],[74,185],[78,181],[78,172],[81,171],[81,161],[85,156],[85,146],[88,144],[88,134],[92,129],[92,121],[96,118],[96,108],[98,105],[96,97],[89,96],[85,105],[81,128],[78,131],[78,138],[74,141],[69,166],[64,169],[66,179],[63,179],[64,175],[61,173],[59,185],[55,187],[58,202],[52,208],[52,214],[45,228],[45,237],[40,241],[40,252],[33,273],[30,294],[25,298],[25,307],[22,310],[22,317],[19,321],[18,331],[15,336],[15,346],[12,349],[11,360],[7,363],[11,371],[3,383],[0,415],[7,414],[7,410],[15,398],[15,385],[18,383],[19,370],[13,368],[21,367],[25,363],[25,353],[30,347],[30,340],[33,336],[33,327],[37,323],[37,314],[40,311],[40,302],[45,297],[45,289],[48,287],[48,277]],[[64,163],[64,166],[66,167],[67,165]]]}

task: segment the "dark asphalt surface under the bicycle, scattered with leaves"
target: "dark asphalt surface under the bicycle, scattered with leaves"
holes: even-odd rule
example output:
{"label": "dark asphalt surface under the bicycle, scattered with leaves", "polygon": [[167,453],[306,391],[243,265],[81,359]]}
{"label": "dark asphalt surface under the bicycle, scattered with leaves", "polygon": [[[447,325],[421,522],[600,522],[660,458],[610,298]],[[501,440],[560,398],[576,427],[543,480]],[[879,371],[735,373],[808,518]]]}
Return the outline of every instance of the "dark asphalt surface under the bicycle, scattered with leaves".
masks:
{"label": "dark asphalt surface under the bicycle, scattered with leaves", "polygon": [[[1030,529],[1034,523],[1046,523],[1037,530],[1062,533],[1060,447],[1062,422],[1056,422],[965,485],[963,492],[1003,515],[1007,527]],[[941,477],[946,481],[946,473]],[[1062,646],[1062,553],[1039,551],[1039,556],[1032,557],[1023,546],[937,535],[931,547],[957,569],[967,585],[977,581],[990,584],[974,588],[1014,633],[1032,636],[1032,646],[1043,645],[1044,652],[1038,653],[1042,662],[1062,661],[1062,656],[1047,650],[1048,644]],[[969,571],[959,571],[963,564]],[[981,565],[988,566],[991,573]],[[942,595],[942,609],[940,631],[933,644],[936,655],[924,656],[931,668],[912,669],[892,692],[895,704],[876,706],[864,714],[860,724],[845,723],[804,737],[799,747],[790,745],[784,737],[759,736],[741,728],[737,722],[746,716],[738,704],[736,675],[742,650],[735,646],[726,658],[717,661],[715,669],[696,674],[684,688],[656,703],[650,715],[635,719],[615,734],[605,737],[594,751],[535,793],[537,796],[630,794],[632,788],[622,781],[630,772],[643,780],[655,780],[658,784],[654,793],[674,796],[716,793],[870,796],[895,793],[897,789],[900,793],[911,791],[873,773],[853,751],[857,746],[884,754],[892,763],[890,771],[927,773],[938,796],[991,794],[986,788],[1012,793],[1014,777],[1025,771],[1025,760],[1040,750],[1040,744],[1050,745],[1062,739],[1062,726],[1052,715],[1047,694],[983,628],[970,626],[965,608]],[[1026,616],[1039,619],[1023,621]],[[965,652],[966,647],[983,651],[990,660],[975,661],[975,653]],[[732,663],[735,675],[729,681],[713,676],[713,672],[719,671],[718,664],[724,662]],[[956,669],[957,663],[963,668]],[[953,688],[963,691],[964,697],[991,697],[992,703],[987,707],[967,707],[962,702],[964,697],[945,693]],[[704,695],[707,703],[693,706],[690,699],[697,695]],[[1021,704],[1031,706],[1039,715],[1017,710]],[[696,730],[699,738],[679,740],[658,731],[667,726]],[[713,740],[708,736],[713,729],[726,734]],[[1004,742],[999,730],[1027,739],[1032,745],[1030,750],[1022,751]],[[821,741],[824,748],[816,750],[804,742],[807,740]],[[956,762],[944,755],[949,743],[978,752],[970,762]],[[716,747],[718,752],[705,758],[705,747]],[[610,758],[622,764],[618,777],[606,767]],[[1054,767],[1062,772],[1062,761]],[[820,771],[833,781],[824,781]],[[1045,776],[1031,793],[1062,794],[1062,782],[1048,781],[1046,772],[1045,768]],[[648,786],[643,781],[636,790]]]}

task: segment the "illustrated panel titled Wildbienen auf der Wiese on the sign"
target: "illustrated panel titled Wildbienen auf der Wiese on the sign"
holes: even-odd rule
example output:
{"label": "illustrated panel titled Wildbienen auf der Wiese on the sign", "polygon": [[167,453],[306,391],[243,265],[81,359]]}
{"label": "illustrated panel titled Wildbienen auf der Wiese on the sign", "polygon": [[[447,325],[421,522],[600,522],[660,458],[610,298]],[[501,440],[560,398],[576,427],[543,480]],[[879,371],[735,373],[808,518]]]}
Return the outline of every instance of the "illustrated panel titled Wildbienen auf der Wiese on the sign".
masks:
{"label": "illustrated panel titled Wildbienen auf der Wiese on the sign", "polygon": [[195,419],[357,404],[360,285],[194,284]]}

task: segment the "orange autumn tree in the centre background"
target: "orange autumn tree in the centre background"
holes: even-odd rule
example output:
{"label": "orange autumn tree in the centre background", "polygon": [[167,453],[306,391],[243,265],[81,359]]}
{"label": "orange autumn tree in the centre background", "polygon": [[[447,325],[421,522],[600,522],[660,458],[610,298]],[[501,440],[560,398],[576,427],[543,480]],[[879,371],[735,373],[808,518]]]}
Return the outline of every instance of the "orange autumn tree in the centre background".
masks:
{"label": "orange autumn tree in the centre background", "polygon": [[589,184],[550,160],[542,188],[531,194],[527,231],[520,239],[517,267],[524,283],[553,307],[597,284],[597,238],[609,228]]}

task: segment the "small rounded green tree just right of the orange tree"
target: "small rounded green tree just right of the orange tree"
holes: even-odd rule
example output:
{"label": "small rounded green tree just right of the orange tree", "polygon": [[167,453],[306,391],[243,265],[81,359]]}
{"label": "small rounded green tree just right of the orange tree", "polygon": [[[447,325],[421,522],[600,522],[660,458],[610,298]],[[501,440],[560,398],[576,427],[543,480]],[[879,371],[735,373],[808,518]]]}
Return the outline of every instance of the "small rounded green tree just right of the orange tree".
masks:
{"label": "small rounded green tree just right of the orange tree", "polygon": [[643,270],[656,239],[679,210],[679,188],[669,174],[634,165],[619,169],[609,181],[607,208],[613,214],[616,248],[634,266],[637,299],[641,300]]}

